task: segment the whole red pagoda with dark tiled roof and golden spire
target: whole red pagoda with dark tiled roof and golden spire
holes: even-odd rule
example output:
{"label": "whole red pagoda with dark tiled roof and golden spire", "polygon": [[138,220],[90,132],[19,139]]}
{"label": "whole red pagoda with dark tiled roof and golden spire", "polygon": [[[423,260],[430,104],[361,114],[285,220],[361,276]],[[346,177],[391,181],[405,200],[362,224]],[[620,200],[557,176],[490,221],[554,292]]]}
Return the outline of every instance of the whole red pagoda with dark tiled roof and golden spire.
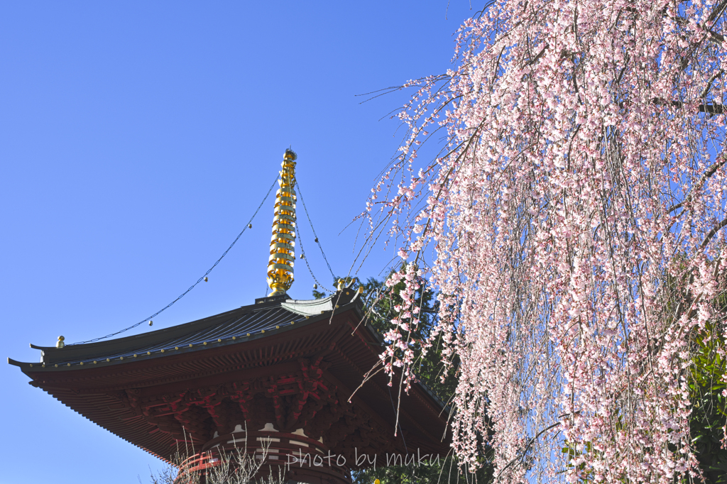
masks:
{"label": "whole red pagoda with dark tiled roof and golden spire", "polygon": [[424,385],[414,384],[401,403],[382,373],[356,391],[383,344],[366,323],[359,292],[341,283],[325,299],[288,297],[295,166],[295,153],[286,150],[269,297],[135,336],[31,344],[40,363],[9,363],[34,387],[160,459],[171,461],[180,443],[194,448],[186,471],[213,466],[221,451],[241,443],[258,459],[266,443],[265,469],[288,483],[350,484],[353,470],[374,462],[445,456],[443,403]]}

